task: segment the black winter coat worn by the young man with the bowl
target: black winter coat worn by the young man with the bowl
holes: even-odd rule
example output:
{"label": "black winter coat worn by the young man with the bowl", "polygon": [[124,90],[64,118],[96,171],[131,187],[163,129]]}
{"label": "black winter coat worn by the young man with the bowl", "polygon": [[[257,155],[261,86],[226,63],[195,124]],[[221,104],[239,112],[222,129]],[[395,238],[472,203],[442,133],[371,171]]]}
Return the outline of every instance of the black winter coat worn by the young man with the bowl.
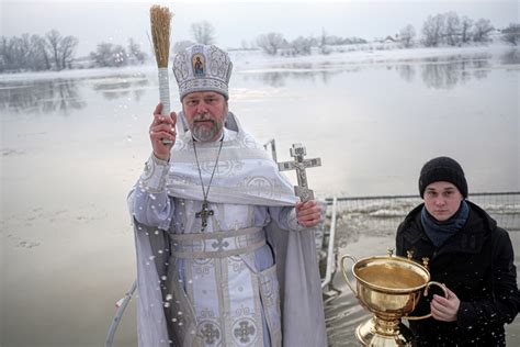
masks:
{"label": "black winter coat worn by the young man with the bowl", "polygon": [[[505,346],[504,325],[520,307],[515,255],[509,234],[474,203],[463,228],[436,248],[426,235],[420,212],[414,209],[399,225],[397,255],[414,251],[414,259],[428,257],[432,281],[444,283],[461,301],[456,322],[434,318],[410,322],[419,346]],[[432,287],[434,288],[434,287]],[[421,299],[411,315],[430,311]]]}

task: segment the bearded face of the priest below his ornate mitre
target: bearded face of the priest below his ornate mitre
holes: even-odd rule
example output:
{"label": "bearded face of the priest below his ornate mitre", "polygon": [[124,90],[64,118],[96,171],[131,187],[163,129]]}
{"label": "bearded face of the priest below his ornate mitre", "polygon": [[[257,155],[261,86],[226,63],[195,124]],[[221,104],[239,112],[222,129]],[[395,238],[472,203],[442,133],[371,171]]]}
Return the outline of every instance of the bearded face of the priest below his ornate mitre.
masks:
{"label": "bearded face of the priest below his ornate mitre", "polygon": [[227,100],[214,91],[195,91],[182,99],[188,126],[196,141],[217,141],[227,115]]}

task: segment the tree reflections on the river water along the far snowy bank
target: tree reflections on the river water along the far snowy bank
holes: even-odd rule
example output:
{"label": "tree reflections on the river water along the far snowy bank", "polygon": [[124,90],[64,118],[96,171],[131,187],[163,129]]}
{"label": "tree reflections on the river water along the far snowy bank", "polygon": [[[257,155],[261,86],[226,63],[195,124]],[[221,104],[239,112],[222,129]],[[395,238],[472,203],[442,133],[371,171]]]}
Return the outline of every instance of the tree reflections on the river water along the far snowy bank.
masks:
{"label": "tree reflections on the river water along the far snowy bank", "polygon": [[[487,78],[494,65],[518,68],[520,53],[512,47],[500,56],[490,53],[477,55],[452,55],[419,59],[395,59],[384,65],[374,60],[344,60],[323,63],[276,64],[267,69],[245,71],[241,78],[247,82],[260,81],[270,87],[285,87],[289,81],[305,80],[314,83],[329,83],[344,72],[385,68],[394,70],[407,82],[416,82],[418,76],[432,89],[452,89],[472,79]],[[517,65],[517,66],[516,66]],[[344,77],[340,77],[344,78]],[[79,87],[91,87],[106,100],[121,98],[142,100],[148,89],[156,89],[145,75],[109,75],[76,79],[24,80],[0,82],[0,110],[15,113],[52,113],[86,108]]]}

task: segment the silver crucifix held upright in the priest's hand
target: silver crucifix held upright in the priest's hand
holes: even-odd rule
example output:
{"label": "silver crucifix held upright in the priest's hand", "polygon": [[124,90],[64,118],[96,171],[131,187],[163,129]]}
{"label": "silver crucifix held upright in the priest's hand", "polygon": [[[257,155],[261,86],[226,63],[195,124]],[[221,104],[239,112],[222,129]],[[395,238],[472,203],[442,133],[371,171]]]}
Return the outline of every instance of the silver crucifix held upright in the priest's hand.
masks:
{"label": "silver crucifix held upright in the priest's hand", "polygon": [[305,169],[321,166],[320,158],[304,159],[305,155],[307,155],[307,152],[302,144],[293,144],[293,148],[291,148],[291,156],[294,158],[294,161],[284,161],[278,164],[278,169],[280,171],[296,170],[298,186],[294,186],[294,193],[299,198],[301,201],[314,200],[314,192],[308,189],[307,186],[307,175],[305,174]]}

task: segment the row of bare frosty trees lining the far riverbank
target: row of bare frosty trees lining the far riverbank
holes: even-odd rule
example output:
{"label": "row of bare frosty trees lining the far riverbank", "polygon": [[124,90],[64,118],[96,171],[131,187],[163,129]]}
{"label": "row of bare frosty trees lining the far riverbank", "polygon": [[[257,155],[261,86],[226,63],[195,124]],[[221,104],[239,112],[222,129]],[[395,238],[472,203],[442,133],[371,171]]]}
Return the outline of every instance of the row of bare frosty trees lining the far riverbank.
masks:
{"label": "row of bare frosty trees lining the far riverbank", "polygon": [[[494,31],[489,20],[473,21],[467,16],[459,16],[455,12],[430,15],[425,21],[421,37],[416,38],[412,25],[400,30],[394,42],[404,47],[417,44],[425,46],[452,45],[457,46],[471,42],[482,43],[489,40]],[[193,41],[180,41],[173,46],[173,52],[179,52],[193,43],[215,43],[215,27],[207,21],[191,24]],[[510,24],[502,30],[502,38],[512,44],[520,42],[520,24]],[[359,37],[340,37],[327,35],[323,31],[318,37],[299,36],[287,41],[280,33],[259,35],[248,46],[242,42],[241,48],[260,48],[269,55],[308,55],[313,48],[321,54],[331,52],[332,46],[363,44],[365,40]],[[128,40],[128,45],[123,47],[113,43],[100,43],[95,52],[89,54],[86,64],[75,60],[78,38],[63,36],[58,31],[52,30],[44,36],[23,34],[20,37],[0,37],[0,72],[20,70],[63,70],[74,67],[121,67],[134,64],[144,64],[148,58],[140,45],[134,40]],[[76,63],[76,66],[74,64]]]}

